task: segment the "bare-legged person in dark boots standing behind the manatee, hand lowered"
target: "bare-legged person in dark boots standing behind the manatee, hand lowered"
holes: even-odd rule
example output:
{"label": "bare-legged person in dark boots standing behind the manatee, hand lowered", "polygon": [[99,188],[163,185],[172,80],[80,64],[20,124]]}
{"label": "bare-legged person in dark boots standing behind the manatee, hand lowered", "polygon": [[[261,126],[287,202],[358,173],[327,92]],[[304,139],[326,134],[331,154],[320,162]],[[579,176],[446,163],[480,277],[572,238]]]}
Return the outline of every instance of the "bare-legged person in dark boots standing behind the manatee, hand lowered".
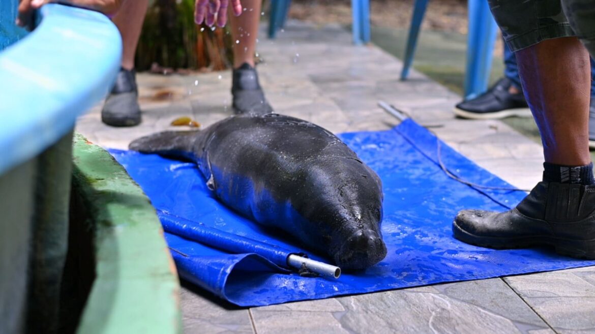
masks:
{"label": "bare-legged person in dark boots standing behind the manatee, hand lowered", "polygon": [[[199,2],[208,1],[197,0],[196,8],[200,8],[198,7]],[[237,7],[237,4],[234,4],[234,7]],[[244,0],[239,7],[242,15],[230,15],[231,36],[233,40],[237,41],[233,45],[234,64],[231,87],[232,107],[236,114],[246,112],[266,114],[273,111],[259,84],[254,62],[261,5],[261,0]],[[148,0],[126,1],[113,17],[113,21],[122,35],[123,56],[120,72],[101,111],[101,119],[107,125],[132,127],[141,122],[134,71],[134,53],[136,53],[147,7]],[[204,8],[206,7],[203,7],[202,11],[195,12],[197,23],[205,21],[206,24],[212,25],[216,21],[218,26],[225,25],[227,1],[221,2],[216,18],[209,17],[209,11]]]}

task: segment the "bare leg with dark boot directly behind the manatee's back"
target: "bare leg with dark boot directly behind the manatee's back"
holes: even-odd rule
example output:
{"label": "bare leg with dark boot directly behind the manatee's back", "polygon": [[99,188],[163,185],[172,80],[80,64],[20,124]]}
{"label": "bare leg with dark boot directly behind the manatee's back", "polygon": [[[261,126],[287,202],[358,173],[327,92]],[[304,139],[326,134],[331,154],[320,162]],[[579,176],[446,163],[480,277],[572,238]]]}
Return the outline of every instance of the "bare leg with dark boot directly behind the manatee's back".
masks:
{"label": "bare leg with dark boot directly behind the manatee's back", "polygon": [[273,109],[265,99],[254,64],[256,38],[261,17],[261,0],[245,0],[240,16],[230,14],[233,39],[233,109],[236,114],[268,114]]}

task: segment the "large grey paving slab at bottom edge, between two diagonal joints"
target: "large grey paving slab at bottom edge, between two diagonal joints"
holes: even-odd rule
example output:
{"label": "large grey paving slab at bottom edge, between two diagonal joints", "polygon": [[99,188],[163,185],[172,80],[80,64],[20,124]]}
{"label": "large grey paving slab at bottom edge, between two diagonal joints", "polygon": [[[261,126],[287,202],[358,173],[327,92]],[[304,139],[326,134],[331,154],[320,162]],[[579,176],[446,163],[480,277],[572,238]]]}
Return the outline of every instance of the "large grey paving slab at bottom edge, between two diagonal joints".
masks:
{"label": "large grey paving slab at bottom edge, between two diagonal joints", "polygon": [[501,279],[250,310],[258,333],[552,332]]}

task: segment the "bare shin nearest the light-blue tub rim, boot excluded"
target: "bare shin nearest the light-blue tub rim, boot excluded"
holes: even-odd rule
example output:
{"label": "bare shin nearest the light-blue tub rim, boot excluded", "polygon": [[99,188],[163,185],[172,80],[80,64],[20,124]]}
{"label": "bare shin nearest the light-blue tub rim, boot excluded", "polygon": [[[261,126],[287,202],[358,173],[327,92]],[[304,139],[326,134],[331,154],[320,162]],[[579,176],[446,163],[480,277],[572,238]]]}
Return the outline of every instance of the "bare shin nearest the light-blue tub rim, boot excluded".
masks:
{"label": "bare shin nearest the light-blue tub rim, boot excluded", "polygon": [[122,35],[122,67],[126,70],[134,68],[134,53],[136,53],[136,45],[139,43],[140,31],[143,21],[145,21],[148,5],[149,0],[124,1],[112,19]]}

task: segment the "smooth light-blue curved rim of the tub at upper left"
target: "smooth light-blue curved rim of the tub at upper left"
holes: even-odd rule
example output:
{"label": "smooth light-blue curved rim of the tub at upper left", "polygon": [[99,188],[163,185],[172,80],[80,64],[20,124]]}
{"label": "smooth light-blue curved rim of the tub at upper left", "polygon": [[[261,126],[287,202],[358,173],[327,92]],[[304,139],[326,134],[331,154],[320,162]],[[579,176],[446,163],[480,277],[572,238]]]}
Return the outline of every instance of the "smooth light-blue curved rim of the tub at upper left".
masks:
{"label": "smooth light-blue curved rim of the tub at upper left", "polygon": [[[2,26],[14,25],[8,14],[0,11]],[[120,33],[105,15],[48,4],[40,17],[35,30],[0,52],[0,173],[69,133],[120,69]]]}

